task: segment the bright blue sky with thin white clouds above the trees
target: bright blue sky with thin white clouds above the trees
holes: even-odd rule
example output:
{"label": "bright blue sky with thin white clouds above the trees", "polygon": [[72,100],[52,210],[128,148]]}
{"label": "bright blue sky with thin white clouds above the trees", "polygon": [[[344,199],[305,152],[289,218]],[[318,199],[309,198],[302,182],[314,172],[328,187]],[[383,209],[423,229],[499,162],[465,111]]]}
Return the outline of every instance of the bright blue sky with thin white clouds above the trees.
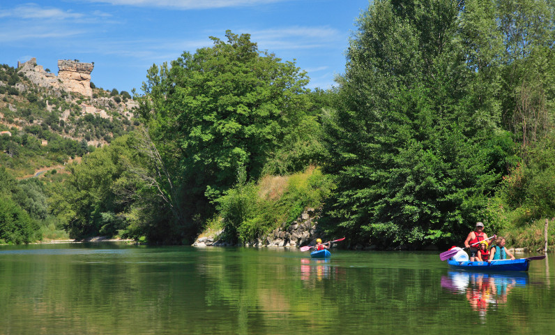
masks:
{"label": "bright blue sky with thin white clouds above the trees", "polygon": [[94,62],[97,87],[131,92],[153,64],[250,34],[329,88],[344,73],[349,36],[368,0],[0,0],[0,64],[36,57],[58,73],[58,59]]}

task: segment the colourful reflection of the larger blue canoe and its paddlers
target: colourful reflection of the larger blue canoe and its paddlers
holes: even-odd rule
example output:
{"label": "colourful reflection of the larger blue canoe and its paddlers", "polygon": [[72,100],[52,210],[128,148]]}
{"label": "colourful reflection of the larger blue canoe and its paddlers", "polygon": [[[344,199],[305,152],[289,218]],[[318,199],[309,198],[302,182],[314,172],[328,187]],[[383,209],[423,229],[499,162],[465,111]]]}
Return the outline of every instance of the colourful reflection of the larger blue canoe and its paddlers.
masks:
{"label": "colourful reflection of the larger blue canoe and its paddlers", "polygon": [[488,308],[507,302],[507,295],[513,288],[528,284],[528,273],[483,274],[464,271],[449,271],[441,276],[441,287],[466,295],[471,308],[485,315]]}

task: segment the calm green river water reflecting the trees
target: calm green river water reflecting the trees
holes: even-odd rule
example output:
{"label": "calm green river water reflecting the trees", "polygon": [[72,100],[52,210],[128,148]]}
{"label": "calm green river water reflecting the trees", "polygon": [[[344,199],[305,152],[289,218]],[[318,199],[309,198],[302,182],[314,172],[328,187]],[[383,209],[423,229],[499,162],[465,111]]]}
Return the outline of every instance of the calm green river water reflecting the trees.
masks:
{"label": "calm green river water reflecting the trees", "polygon": [[[0,246],[0,334],[552,334],[555,256],[509,276],[436,253]],[[529,254],[517,254],[526,257]]]}

